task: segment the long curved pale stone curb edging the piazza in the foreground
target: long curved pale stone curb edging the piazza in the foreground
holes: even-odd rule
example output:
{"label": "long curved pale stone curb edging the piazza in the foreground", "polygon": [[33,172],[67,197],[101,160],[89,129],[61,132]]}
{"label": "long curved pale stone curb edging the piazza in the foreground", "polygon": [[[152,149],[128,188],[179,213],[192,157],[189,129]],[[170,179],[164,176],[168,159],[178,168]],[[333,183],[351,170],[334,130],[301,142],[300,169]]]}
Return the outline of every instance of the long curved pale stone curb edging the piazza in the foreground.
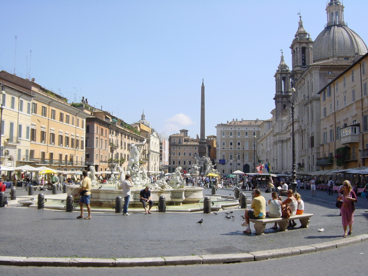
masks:
{"label": "long curved pale stone curb edging the piazza in the foreground", "polygon": [[155,258],[41,258],[41,257],[17,257],[0,256],[0,265],[15,266],[70,266],[70,267],[131,267],[131,266],[169,266],[169,265],[202,265],[261,261],[287,256],[296,256],[339,248],[346,245],[360,243],[368,240],[368,234],[356,237],[343,238],[337,241],[325,243],[302,245],[265,251],[254,251],[238,254],[216,254],[202,256],[171,256]]}

